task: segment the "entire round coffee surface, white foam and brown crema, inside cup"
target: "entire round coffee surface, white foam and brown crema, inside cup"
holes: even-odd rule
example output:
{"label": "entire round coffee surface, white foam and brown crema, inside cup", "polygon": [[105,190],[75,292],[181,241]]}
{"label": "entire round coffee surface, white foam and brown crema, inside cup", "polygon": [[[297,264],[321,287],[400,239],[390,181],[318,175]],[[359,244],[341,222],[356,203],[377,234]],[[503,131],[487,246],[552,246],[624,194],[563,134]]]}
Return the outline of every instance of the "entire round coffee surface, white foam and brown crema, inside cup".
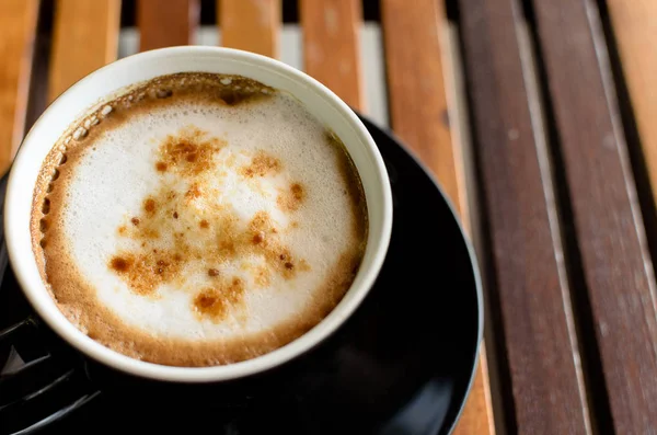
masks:
{"label": "entire round coffee surface, white foam and brown crema, inside cup", "polygon": [[60,138],[32,241],[61,312],[101,344],[173,366],[231,364],[301,336],[358,271],[367,205],[339,139],[292,96],[162,76]]}

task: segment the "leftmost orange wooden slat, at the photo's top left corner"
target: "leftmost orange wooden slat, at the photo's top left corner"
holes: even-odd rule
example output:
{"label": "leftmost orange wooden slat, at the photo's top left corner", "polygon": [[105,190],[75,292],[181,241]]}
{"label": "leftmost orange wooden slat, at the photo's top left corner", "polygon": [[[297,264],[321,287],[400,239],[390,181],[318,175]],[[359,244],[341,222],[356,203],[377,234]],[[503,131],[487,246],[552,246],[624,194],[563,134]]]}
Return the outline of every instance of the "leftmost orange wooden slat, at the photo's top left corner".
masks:
{"label": "leftmost orange wooden slat, at the photo's top left corner", "polygon": [[0,2],[0,173],[23,139],[37,11],[38,0]]}

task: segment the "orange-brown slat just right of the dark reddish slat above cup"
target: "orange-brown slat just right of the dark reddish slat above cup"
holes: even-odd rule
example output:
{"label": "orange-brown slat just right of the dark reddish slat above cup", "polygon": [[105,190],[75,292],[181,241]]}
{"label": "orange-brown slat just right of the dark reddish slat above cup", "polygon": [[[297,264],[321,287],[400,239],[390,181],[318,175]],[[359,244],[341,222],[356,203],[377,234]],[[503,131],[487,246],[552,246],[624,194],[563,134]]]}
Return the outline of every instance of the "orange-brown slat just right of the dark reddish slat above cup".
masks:
{"label": "orange-brown slat just right of the dark reddish slat above cup", "polygon": [[280,0],[217,0],[222,45],[277,58]]}

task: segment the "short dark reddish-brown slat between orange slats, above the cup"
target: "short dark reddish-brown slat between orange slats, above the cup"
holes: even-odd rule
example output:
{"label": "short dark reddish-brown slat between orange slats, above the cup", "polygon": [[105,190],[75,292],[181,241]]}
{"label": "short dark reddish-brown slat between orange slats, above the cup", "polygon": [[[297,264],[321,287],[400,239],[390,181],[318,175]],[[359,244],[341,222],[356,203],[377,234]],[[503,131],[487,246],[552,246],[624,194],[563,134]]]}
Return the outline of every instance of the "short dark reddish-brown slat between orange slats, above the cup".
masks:
{"label": "short dark reddish-brown slat between orange slats, above the cup", "polygon": [[199,13],[198,0],[139,0],[139,50],[194,44]]}

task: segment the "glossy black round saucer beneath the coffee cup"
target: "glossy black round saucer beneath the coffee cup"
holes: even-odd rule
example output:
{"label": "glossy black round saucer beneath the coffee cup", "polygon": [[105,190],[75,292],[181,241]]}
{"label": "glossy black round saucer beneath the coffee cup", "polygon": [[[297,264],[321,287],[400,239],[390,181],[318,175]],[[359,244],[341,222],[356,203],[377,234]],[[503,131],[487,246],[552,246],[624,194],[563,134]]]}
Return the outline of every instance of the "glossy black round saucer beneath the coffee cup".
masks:
{"label": "glossy black round saucer beneath the coffee cup", "polygon": [[[80,391],[90,393],[83,407],[39,433],[449,434],[482,339],[476,263],[433,179],[399,141],[364,122],[390,174],[393,233],[377,284],[337,333],[302,358],[249,382],[187,386],[143,381],[88,362],[37,321],[14,342],[20,355],[51,354],[42,366],[54,377],[77,368],[66,380],[69,386],[37,398],[44,402],[39,410],[48,410],[41,412],[47,416],[53,412],[48,403],[76,403]],[[3,202],[4,182],[1,187]],[[5,259],[2,249],[0,264]],[[4,276],[1,271],[0,330],[30,314],[11,268]],[[0,342],[0,367],[3,348]],[[14,403],[19,413],[21,407]],[[32,411],[27,420],[34,420]],[[18,427],[0,422],[0,434]]]}

